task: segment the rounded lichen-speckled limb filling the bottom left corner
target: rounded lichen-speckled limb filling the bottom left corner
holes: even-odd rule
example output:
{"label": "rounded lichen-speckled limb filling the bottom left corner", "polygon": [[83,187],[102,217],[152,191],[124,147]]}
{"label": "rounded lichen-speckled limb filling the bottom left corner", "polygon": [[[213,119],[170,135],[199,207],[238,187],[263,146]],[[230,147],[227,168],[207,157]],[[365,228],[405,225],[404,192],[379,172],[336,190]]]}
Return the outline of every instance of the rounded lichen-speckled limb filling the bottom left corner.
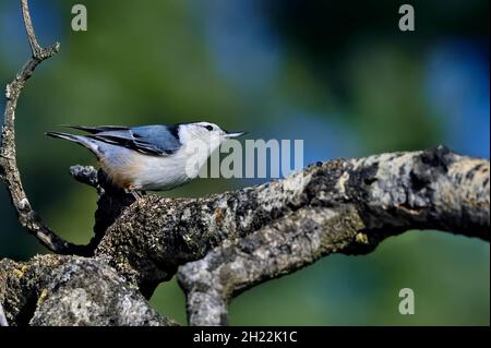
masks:
{"label": "rounded lichen-speckled limb filling the bottom left corner", "polygon": [[0,261],[0,302],[12,325],[176,325],[95,259]]}

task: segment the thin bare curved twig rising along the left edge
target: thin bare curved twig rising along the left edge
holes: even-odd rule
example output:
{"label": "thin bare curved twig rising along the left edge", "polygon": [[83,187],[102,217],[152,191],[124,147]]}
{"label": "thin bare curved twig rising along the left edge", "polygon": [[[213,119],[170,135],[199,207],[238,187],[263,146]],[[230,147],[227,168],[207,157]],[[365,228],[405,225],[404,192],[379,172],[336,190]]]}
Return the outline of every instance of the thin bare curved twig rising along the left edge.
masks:
{"label": "thin bare curved twig rising along the left edge", "polygon": [[26,81],[33,75],[36,67],[44,60],[52,57],[59,51],[60,45],[56,43],[52,46],[43,48],[39,46],[31,21],[27,0],[21,0],[24,24],[31,45],[33,57],[24,64],[16,74],[14,81],[7,85],[5,91],[5,111],[3,127],[0,140],[0,179],[5,183],[9,191],[12,205],[17,214],[21,225],[34,235],[46,248],[56,253],[70,254],[86,253],[85,247],[72,244],[50,230],[41,218],[31,206],[27,195],[22,185],[21,175],[19,172],[15,155],[15,109],[19,97],[24,88]]}

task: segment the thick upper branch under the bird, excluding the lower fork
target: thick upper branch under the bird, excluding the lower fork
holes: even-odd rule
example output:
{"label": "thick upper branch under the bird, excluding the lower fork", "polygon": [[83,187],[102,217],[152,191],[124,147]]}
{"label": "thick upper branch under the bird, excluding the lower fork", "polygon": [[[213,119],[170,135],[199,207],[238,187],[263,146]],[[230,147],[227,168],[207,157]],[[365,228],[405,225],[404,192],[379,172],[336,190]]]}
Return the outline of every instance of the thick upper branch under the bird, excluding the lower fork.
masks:
{"label": "thick upper branch under the bird, excluding the lower fork", "polygon": [[489,240],[489,161],[438,147],[326,161],[205,199],[147,195],[122,211],[95,255],[148,295],[179,265],[224,240],[244,238],[299,209],[347,206],[369,240],[415,228]]}

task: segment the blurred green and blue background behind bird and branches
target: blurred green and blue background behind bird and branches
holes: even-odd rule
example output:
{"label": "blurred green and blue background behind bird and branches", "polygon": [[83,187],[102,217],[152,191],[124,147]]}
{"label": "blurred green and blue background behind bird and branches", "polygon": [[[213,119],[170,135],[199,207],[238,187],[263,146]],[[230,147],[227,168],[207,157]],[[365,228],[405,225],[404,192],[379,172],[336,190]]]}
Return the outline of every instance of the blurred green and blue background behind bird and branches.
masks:
{"label": "blurred green and blue background behind bird and branches", "polygon": [[[96,193],[68,175],[92,155],[47,139],[57,124],[195,120],[302,139],[306,164],[446,144],[489,158],[489,1],[32,0],[41,45],[61,43],[24,91],[17,153],[34,207],[73,242],[91,238]],[[88,31],[71,31],[84,3]],[[0,2],[0,83],[29,55],[19,1]],[[4,100],[0,100],[3,110]],[[264,180],[262,180],[264,181]],[[199,179],[164,193],[202,196],[261,182]],[[0,190],[0,257],[46,253]],[[489,243],[411,231],[366,256],[332,255],[235,299],[231,324],[489,325]],[[400,315],[398,291],[416,295]],[[151,303],[185,323],[175,279]]]}

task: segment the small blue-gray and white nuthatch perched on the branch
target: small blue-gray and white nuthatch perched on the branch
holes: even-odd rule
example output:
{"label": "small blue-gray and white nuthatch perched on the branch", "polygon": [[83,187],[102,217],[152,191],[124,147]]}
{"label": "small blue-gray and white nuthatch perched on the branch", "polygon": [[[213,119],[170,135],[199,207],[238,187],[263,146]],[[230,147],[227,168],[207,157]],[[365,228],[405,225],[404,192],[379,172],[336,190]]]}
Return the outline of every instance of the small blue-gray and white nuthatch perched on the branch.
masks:
{"label": "small blue-gray and white nuthatch perched on the branch", "polygon": [[[87,135],[47,132],[88,148],[112,182],[128,191],[166,191],[197,177],[199,168],[224,141],[244,132],[227,132],[209,122],[141,127],[68,125]],[[196,147],[201,147],[197,152]],[[204,147],[204,148],[203,148]],[[195,167],[195,166],[194,166]]]}

